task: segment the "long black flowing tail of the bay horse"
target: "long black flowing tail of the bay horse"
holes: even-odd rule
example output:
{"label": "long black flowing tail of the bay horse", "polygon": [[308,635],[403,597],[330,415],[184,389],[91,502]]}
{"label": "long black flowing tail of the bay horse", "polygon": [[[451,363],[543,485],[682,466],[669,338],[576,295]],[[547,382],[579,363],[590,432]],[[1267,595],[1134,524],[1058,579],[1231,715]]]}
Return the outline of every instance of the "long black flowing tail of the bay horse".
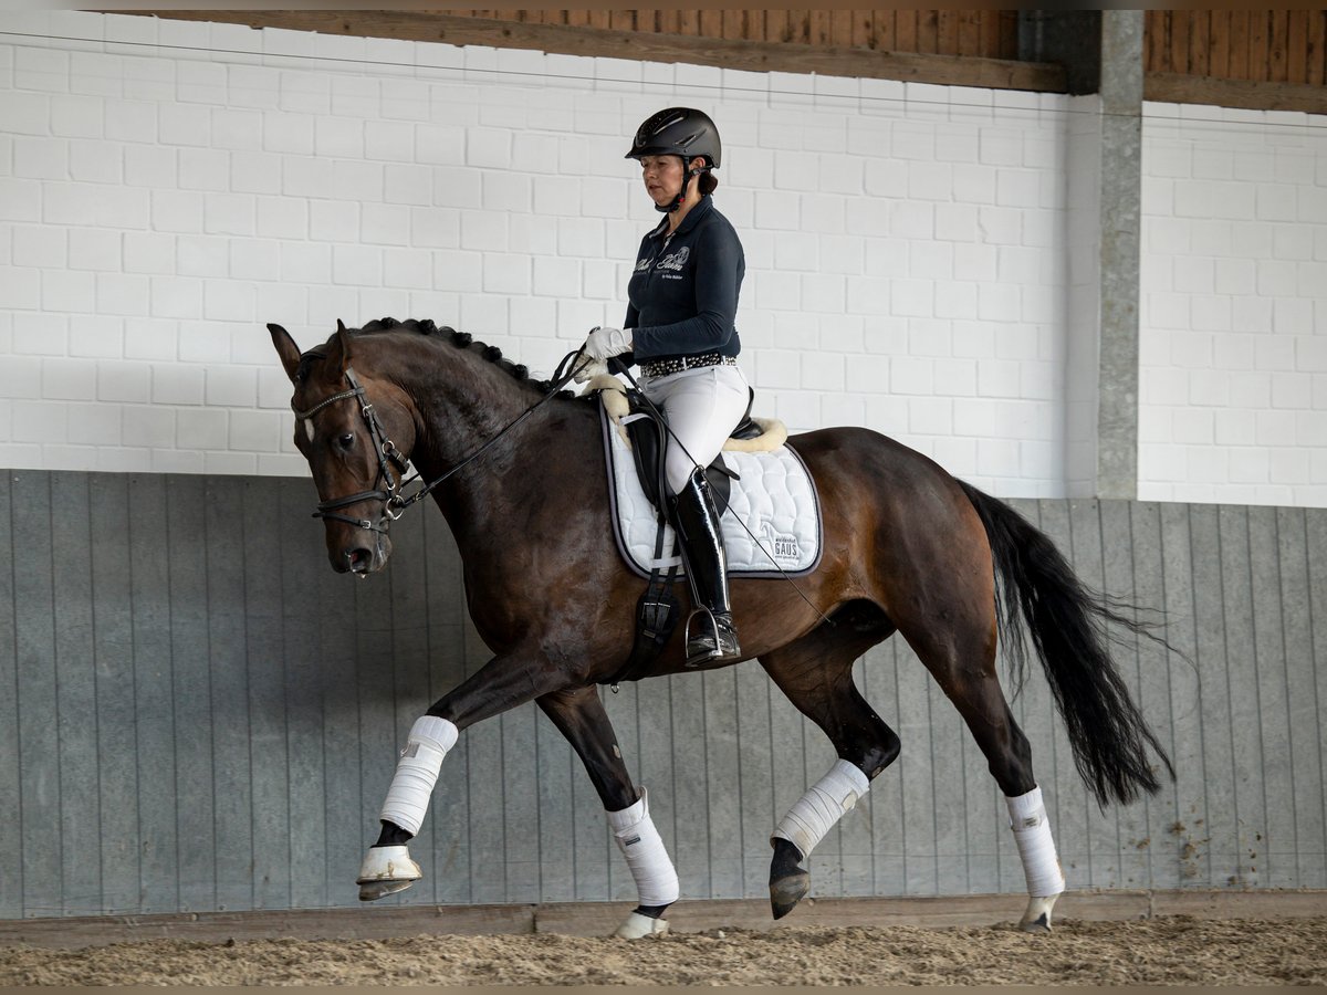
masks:
{"label": "long black flowing tail of the bay horse", "polygon": [[1006,657],[1019,683],[1026,673],[1027,625],[1074,748],[1074,763],[1103,807],[1132,801],[1139,789],[1160,789],[1148,760],[1151,746],[1174,777],[1165,750],[1129,698],[1111,659],[1111,624],[1152,638],[1131,606],[1087,588],[1055,544],[1003,501],[959,480],[986,527],[1001,581],[997,618]]}

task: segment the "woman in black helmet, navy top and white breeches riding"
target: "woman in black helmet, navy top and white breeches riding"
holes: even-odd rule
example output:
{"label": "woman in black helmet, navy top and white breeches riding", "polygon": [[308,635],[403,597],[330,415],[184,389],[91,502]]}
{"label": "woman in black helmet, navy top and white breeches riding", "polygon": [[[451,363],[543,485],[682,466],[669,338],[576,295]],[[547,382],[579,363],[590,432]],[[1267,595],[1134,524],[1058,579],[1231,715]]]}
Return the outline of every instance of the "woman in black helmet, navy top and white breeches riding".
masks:
{"label": "woman in black helmet, navy top and white breeches riding", "polygon": [[694,601],[714,625],[698,625],[687,666],[742,655],[729,600],[719,515],[705,478],[742,419],[750,387],[736,356],[734,318],[746,257],[736,232],[714,207],[722,150],[707,114],[667,107],[636,131],[628,159],[641,163],[645,190],[664,215],[641,240],[626,287],[624,328],[596,328],[585,341],[593,360],[640,364],[640,386],[667,414],[665,474],[673,521]]}

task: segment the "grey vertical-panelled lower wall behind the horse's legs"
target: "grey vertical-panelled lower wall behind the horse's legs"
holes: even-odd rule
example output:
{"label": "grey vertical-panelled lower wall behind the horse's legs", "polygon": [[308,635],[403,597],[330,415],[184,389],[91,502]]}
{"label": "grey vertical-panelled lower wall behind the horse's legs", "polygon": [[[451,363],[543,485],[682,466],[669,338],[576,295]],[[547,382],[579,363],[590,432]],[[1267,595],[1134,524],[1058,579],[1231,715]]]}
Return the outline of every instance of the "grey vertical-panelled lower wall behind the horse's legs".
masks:
{"label": "grey vertical-panelled lower wall behind the horse's legs", "polygon": [[[414,719],[487,651],[433,509],[328,569],[307,480],[9,471],[0,917],[356,906]],[[1011,501],[1093,588],[1165,609],[1119,662],[1176,780],[1105,812],[1034,665],[1006,679],[1071,888],[1327,888],[1327,511]],[[536,597],[537,590],[532,589]],[[1002,667],[1005,663],[1002,663]],[[811,858],[821,896],[1023,890],[1003,799],[901,639],[855,667],[898,763]],[[755,662],[601,690],[689,898],[758,897],[833,751]],[[630,902],[580,762],[533,706],[467,730],[389,903]]]}

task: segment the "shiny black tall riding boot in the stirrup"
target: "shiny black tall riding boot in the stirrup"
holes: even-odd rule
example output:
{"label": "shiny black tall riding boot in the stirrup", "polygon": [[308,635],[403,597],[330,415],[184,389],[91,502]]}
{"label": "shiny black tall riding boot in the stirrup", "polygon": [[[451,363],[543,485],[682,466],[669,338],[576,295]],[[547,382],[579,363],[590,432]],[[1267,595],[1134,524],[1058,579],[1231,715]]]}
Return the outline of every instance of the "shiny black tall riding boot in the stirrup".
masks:
{"label": "shiny black tall riding boot in the stirrup", "polygon": [[738,659],[742,647],[733,628],[729,561],[723,552],[719,512],[703,470],[693,470],[681,494],[673,499],[673,524],[681,539],[686,576],[691,581],[691,600],[698,606],[687,618],[686,665],[697,667]]}

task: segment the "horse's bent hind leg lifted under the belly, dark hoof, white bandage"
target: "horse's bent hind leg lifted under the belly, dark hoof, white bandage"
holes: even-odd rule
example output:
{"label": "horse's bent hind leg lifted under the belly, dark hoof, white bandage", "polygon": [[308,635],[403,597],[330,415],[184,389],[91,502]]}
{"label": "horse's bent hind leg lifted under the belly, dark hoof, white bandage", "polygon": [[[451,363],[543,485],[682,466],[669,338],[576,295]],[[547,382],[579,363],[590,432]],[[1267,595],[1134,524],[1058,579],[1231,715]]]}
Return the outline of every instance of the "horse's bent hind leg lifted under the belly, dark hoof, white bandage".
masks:
{"label": "horse's bent hind leg lifted under the belly, dark hoof, white bandage", "polygon": [[848,605],[760,665],[798,710],[833,743],[839,760],[779,821],[770,842],[770,907],[782,919],[811,890],[803,861],[898,756],[898,736],[857,693],[852,665],[893,631],[874,606]]}

